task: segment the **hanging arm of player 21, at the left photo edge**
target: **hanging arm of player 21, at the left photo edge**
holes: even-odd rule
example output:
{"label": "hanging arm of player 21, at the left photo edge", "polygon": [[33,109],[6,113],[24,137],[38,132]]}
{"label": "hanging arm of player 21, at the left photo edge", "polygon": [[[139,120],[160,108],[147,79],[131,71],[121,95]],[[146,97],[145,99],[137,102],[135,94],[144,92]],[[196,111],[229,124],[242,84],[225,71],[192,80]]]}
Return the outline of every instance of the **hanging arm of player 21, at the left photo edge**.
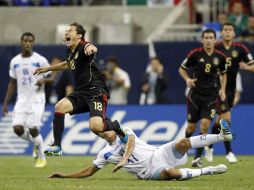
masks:
{"label": "hanging arm of player 21, at the left photo edge", "polygon": [[8,84],[8,89],[7,89],[3,107],[2,107],[2,115],[3,116],[6,116],[8,114],[8,104],[9,104],[14,92],[16,91],[16,89],[17,89],[17,80],[11,78],[11,80]]}

